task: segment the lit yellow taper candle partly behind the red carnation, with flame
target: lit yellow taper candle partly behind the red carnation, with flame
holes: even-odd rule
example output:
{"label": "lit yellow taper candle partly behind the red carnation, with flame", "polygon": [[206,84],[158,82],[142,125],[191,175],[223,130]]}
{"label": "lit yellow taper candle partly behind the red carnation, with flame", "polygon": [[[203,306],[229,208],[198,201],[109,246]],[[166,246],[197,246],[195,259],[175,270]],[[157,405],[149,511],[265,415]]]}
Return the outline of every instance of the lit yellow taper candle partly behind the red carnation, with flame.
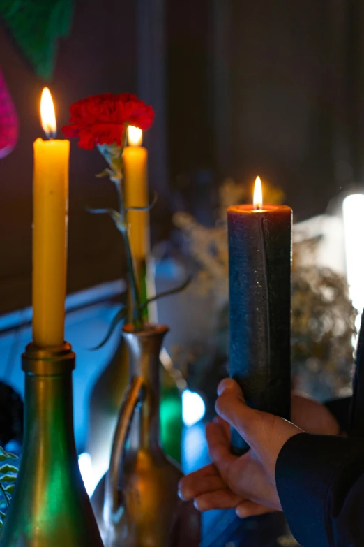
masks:
{"label": "lit yellow taper candle partly behind the red carnation, with flame", "polygon": [[[126,207],[149,205],[147,162],[148,151],[142,145],[143,132],[128,127],[129,146],[124,148],[124,191]],[[129,237],[135,261],[143,261],[149,252],[149,213],[128,212]]]}

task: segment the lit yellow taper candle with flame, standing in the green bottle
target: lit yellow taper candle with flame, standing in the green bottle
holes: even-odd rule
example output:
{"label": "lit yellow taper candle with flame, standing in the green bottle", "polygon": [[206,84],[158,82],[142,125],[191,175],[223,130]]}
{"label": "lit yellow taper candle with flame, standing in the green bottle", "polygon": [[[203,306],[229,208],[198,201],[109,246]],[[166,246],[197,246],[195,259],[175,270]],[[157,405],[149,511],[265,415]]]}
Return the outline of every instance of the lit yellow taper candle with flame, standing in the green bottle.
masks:
{"label": "lit yellow taper candle with flame, standing in the green bottle", "polygon": [[33,342],[63,344],[66,299],[69,140],[54,140],[56,118],[49,89],[40,101],[42,126],[33,168]]}

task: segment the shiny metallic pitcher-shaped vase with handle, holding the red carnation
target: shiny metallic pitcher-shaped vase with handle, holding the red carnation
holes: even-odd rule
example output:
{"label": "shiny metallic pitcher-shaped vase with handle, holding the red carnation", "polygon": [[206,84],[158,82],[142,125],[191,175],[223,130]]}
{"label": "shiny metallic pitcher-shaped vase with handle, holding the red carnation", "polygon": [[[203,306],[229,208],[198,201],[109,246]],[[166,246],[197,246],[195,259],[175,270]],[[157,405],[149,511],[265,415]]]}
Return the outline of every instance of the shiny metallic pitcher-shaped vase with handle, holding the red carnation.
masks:
{"label": "shiny metallic pitcher-shaped vase with handle, holding the red carnation", "polygon": [[167,331],[162,325],[141,332],[130,325],[123,328],[130,386],[121,405],[109,471],[91,499],[105,547],[199,544],[199,516],[186,511],[177,495],[181,470],[160,447],[159,354]]}

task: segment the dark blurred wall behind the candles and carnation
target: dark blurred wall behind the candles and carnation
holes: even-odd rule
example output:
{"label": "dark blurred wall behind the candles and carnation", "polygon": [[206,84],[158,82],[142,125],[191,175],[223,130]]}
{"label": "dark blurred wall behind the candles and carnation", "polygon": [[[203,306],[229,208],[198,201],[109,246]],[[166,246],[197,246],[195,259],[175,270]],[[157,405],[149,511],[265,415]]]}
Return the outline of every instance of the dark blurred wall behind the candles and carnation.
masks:
{"label": "dark blurred wall behind the candles and carnation", "polygon": [[[0,161],[0,312],[30,303],[32,143],[45,84],[59,128],[88,94],[137,92],[154,105],[154,240],[186,199],[191,210],[210,207],[227,176],[278,184],[305,219],[363,182],[363,21],[360,0],[78,0],[43,82],[0,20],[0,67],[20,117],[17,147]],[[112,222],[82,206],[113,205],[111,184],[94,177],[102,168],[96,151],[73,143],[70,292],[123,272]]]}

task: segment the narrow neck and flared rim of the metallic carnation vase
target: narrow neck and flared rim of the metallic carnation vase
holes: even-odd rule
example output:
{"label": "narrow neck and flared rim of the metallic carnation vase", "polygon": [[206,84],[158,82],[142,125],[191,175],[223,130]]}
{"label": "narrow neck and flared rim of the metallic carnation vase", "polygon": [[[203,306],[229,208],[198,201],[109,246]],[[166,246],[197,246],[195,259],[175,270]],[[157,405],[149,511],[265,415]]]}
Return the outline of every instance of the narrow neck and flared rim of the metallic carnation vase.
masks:
{"label": "narrow neck and flared rim of the metallic carnation vase", "polygon": [[123,337],[130,356],[130,381],[141,377],[144,383],[142,404],[135,416],[135,444],[139,448],[153,448],[160,445],[160,349],[167,333],[164,326],[149,326],[142,332],[128,332]]}

